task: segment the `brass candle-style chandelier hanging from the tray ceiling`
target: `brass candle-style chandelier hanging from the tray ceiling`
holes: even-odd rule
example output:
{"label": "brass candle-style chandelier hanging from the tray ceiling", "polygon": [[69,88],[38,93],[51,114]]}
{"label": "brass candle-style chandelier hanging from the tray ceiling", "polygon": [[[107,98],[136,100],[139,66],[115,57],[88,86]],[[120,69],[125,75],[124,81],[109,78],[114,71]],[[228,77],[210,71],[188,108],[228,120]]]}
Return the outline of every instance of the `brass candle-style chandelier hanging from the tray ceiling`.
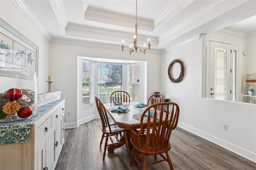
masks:
{"label": "brass candle-style chandelier hanging from the tray ceiling", "polygon": [[134,49],[135,49],[136,52],[137,52],[137,49],[140,49],[140,51],[142,53],[144,53],[144,54],[146,52],[146,49],[150,50],[150,39],[149,38],[148,38],[148,47],[146,47],[146,43],[144,43],[144,47],[142,47],[143,50],[141,49],[140,46],[138,46],[138,44],[137,44],[137,38],[138,38],[138,36],[137,36],[137,29],[138,29],[138,24],[137,24],[137,0],[136,0],[136,23],[135,23],[134,42],[133,42],[134,43],[134,47],[132,47],[132,45],[130,44],[130,47],[125,49],[124,48],[124,40],[122,41],[122,51],[129,49],[130,55],[134,51]]}

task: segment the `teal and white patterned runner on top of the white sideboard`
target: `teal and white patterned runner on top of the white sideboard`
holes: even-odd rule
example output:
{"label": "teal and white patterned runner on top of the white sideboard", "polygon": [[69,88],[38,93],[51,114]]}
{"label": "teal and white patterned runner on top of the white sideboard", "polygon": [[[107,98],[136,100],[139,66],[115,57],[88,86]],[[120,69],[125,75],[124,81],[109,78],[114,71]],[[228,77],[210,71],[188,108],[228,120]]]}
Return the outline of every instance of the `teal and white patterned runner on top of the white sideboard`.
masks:
{"label": "teal and white patterned runner on top of the white sideboard", "polygon": [[28,142],[31,124],[61,100],[38,107],[36,115],[32,119],[16,123],[0,123],[0,144]]}

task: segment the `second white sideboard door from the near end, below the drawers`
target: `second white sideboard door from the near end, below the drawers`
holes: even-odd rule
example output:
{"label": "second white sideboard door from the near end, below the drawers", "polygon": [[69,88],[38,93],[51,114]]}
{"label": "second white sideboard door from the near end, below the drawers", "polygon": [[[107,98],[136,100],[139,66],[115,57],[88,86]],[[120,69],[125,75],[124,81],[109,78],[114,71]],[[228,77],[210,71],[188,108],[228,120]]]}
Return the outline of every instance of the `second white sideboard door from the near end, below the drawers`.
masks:
{"label": "second white sideboard door from the near end, below the drawers", "polygon": [[50,134],[46,137],[46,167],[52,170],[55,161],[55,134],[56,126],[53,127]]}

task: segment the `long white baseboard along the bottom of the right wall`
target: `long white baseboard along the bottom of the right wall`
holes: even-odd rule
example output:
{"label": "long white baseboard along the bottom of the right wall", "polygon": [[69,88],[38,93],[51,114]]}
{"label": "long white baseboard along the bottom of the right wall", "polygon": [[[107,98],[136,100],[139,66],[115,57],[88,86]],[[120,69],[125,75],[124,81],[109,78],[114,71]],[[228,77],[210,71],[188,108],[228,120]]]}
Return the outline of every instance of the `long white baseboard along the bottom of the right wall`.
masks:
{"label": "long white baseboard along the bottom of the right wall", "polygon": [[181,122],[178,123],[178,127],[182,128],[184,130],[187,130],[188,132],[191,132],[193,134],[196,134],[197,136],[200,136],[201,138],[204,138],[204,139],[206,139],[214,144],[217,144],[227,150],[230,150],[231,152],[234,152],[248,160],[251,160],[252,162],[256,162],[256,153],[253,153],[250,150],[241,148],[240,146],[237,146],[237,145],[232,144],[226,140],[223,140],[221,138],[218,138],[216,136],[213,136],[211,134],[203,132],[202,130],[198,130],[194,127],[190,127]]}

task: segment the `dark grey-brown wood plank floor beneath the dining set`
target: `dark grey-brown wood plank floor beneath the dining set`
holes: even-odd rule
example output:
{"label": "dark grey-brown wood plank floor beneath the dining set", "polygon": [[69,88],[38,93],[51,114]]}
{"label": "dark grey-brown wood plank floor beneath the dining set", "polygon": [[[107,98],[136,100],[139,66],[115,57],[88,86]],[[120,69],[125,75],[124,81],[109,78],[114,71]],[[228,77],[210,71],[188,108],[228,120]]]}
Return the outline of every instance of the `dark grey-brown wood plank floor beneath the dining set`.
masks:
{"label": "dark grey-brown wood plank floor beneath the dining set", "polygon": [[[101,135],[100,119],[66,129],[56,170],[140,170],[135,161],[129,166],[130,155],[125,145],[107,152],[103,161]],[[172,131],[170,143],[169,155],[175,170],[256,170],[256,163],[178,127]],[[154,156],[150,160],[154,160]],[[148,166],[148,170],[167,169],[170,169],[167,162]]]}

